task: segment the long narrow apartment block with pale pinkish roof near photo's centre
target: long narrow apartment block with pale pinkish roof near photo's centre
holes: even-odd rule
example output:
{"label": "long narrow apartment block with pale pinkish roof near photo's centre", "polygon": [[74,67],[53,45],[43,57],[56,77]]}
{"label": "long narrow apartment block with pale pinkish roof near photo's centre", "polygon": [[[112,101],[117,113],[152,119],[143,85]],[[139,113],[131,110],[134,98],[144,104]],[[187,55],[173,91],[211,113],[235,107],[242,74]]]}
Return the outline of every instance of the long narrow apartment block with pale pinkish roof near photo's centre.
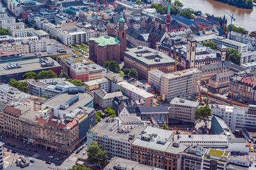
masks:
{"label": "long narrow apartment block with pale pinkish roof near photo's centre", "polygon": [[121,81],[117,85],[123,89],[124,96],[129,97],[131,100],[145,102],[145,106],[153,106],[154,95],[146,92],[144,89],[140,89],[127,81]]}

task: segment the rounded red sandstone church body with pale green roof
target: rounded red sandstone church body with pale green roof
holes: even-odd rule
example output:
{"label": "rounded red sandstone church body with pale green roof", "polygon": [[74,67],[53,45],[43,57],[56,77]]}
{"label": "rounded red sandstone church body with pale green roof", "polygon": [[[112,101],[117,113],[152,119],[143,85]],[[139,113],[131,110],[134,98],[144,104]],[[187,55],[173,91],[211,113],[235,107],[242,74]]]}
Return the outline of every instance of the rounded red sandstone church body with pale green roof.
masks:
{"label": "rounded red sandstone church body with pale green roof", "polygon": [[120,45],[120,41],[111,36],[91,38],[89,42],[89,57],[101,66],[105,61],[109,60],[120,62],[122,53],[122,51],[120,51]]}

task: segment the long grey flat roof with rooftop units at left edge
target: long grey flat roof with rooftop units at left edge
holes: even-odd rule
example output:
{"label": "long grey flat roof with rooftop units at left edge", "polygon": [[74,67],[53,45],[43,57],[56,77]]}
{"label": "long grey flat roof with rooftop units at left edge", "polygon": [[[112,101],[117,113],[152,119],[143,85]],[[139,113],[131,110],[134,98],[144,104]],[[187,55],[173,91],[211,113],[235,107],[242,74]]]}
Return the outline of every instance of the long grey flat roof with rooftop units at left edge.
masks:
{"label": "long grey flat roof with rooftop units at left edge", "polygon": [[11,62],[12,64],[19,64],[20,67],[16,67],[13,69],[4,69],[4,67],[7,67],[10,65],[10,63],[3,63],[0,64],[0,76],[8,75],[8,74],[17,74],[17,73],[26,73],[29,71],[36,71],[36,70],[42,70],[42,69],[49,69],[52,67],[61,67],[56,60],[51,59],[51,57],[46,57],[48,61],[54,62],[54,66],[47,66],[42,67],[41,63],[39,62],[39,59],[30,59],[30,60],[22,60],[18,62]]}

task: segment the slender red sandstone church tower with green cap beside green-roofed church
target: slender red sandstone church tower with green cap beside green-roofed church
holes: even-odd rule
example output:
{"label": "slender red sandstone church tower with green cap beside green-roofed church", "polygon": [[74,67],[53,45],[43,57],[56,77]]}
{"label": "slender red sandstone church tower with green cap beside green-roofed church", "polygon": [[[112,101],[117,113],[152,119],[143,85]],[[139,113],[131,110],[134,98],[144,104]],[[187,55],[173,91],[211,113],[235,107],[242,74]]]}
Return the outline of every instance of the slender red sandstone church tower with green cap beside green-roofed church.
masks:
{"label": "slender red sandstone church tower with green cap beside green-roofed church", "polygon": [[124,60],[124,52],[127,49],[127,39],[126,39],[126,29],[125,20],[120,18],[118,27],[118,39],[120,40],[120,60]]}

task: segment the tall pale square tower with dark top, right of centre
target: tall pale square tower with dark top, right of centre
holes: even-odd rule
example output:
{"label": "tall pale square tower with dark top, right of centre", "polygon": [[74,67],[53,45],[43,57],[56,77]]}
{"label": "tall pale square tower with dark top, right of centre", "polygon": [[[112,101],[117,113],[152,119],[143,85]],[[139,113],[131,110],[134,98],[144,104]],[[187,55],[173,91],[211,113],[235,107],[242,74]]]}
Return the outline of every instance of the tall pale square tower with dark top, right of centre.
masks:
{"label": "tall pale square tower with dark top, right of centre", "polygon": [[187,60],[189,62],[187,69],[195,68],[196,43],[197,41],[195,38],[188,38],[187,40]]}

